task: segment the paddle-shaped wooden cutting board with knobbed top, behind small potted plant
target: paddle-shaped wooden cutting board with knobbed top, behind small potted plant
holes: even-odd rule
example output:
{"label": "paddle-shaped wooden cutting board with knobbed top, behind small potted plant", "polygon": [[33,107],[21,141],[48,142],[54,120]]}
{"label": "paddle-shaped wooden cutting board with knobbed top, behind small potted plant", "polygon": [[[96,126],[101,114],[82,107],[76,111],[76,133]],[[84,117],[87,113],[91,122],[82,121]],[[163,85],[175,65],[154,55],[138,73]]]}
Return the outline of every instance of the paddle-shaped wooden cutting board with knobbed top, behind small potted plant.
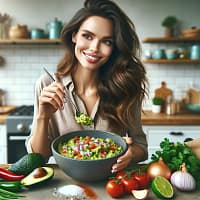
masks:
{"label": "paddle-shaped wooden cutting board with knobbed top, behind small potted plant", "polygon": [[172,90],[167,88],[166,82],[162,81],[161,86],[155,89],[155,97],[160,97],[163,99],[164,104],[162,105],[161,112],[165,112],[167,97],[172,97]]}

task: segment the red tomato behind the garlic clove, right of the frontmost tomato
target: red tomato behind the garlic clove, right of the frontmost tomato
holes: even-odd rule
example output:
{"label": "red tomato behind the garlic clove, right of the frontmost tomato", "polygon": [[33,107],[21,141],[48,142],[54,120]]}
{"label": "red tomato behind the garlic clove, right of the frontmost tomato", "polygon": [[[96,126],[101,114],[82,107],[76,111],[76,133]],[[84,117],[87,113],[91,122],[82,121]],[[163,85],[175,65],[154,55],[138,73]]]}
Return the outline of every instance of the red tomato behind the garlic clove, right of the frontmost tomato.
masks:
{"label": "red tomato behind the garlic clove, right of the frontmost tomato", "polygon": [[133,177],[124,177],[122,183],[126,193],[131,193],[132,190],[137,190],[139,188],[138,181]]}

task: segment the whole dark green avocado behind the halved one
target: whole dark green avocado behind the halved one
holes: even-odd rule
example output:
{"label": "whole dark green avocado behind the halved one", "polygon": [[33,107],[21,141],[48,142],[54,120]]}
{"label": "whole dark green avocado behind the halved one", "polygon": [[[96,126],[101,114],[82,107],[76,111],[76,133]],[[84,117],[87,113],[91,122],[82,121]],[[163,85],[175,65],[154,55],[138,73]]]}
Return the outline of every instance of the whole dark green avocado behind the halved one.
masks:
{"label": "whole dark green avocado behind the halved one", "polygon": [[16,163],[9,166],[8,170],[15,174],[28,175],[37,167],[45,165],[44,157],[39,153],[29,153],[24,155]]}

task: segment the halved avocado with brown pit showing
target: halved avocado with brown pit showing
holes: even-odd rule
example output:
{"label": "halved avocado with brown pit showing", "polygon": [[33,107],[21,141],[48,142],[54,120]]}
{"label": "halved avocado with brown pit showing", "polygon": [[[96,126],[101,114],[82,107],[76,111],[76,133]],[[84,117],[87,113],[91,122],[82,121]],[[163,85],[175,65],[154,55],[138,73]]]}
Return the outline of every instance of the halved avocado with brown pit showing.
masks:
{"label": "halved avocado with brown pit showing", "polygon": [[[41,170],[42,169],[42,170]],[[54,176],[54,169],[51,167],[40,167],[33,170],[28,176],[21,180],[23,186],[33,186],[50,180]]]}

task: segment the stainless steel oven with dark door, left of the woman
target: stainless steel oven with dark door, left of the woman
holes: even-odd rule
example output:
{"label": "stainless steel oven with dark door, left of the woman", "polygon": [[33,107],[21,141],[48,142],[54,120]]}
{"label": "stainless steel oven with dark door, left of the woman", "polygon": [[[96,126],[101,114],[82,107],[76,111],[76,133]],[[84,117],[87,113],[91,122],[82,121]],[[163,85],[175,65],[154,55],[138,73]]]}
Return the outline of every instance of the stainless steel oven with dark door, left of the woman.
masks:
{"label": "stainless steel oven with dark door, left of the woman", "polygon": [[19,106],[6,119],[8,163],[14,163],[27,154],[25,140],[31,131],[33,109],[33,105]]}

